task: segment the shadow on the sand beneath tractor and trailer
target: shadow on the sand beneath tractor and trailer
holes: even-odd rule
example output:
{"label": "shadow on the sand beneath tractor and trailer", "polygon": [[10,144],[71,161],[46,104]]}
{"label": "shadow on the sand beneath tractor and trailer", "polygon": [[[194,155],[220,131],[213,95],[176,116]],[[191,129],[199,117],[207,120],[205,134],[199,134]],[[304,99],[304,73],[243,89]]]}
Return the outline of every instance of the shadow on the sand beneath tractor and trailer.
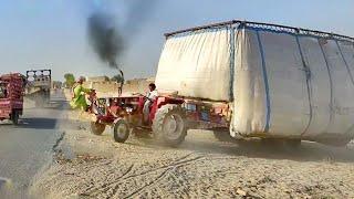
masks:
{"label": "shadow on the sand beneath tractor and trailer", "polygon": [[[166,149],[154,139],[140,138],[139,143],[129,143],[140,147]],[[214,137],[200,139],[187,136],[187,139],[176,150],[191,150],[210,155],[246,156],[249,158],[266,158],[294,161],[325,161],[325,163],[354,163],[354,146],[330,147],[317,143],[302,142],[299,147],[282,144],[267,145],[260,140],[248,140],[238,144],[218,142]]]}

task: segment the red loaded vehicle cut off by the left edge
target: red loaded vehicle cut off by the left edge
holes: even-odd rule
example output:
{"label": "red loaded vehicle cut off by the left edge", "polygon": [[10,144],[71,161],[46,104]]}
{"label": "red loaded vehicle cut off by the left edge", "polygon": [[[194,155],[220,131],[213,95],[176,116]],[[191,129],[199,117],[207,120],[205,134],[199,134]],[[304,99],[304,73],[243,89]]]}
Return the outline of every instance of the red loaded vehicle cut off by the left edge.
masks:
{"label": "red loaded vehicle cut off by the left edge", "polygon": [[19,73],[0,76],[0,121],[19,123],[23,113],[24,85],[25,77]]}

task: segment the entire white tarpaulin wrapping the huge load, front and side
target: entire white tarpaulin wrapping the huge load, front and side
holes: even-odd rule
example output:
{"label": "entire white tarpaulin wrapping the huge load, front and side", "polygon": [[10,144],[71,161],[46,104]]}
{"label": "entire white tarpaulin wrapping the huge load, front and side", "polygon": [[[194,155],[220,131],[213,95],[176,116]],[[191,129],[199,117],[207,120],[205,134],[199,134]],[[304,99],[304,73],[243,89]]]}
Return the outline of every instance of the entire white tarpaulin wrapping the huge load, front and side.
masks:
{"label": "entire white tarpaulin wrapping the huge load, front and side", "polygon": [[354,137],[353,75],[353,42],[239,27],[169,36],[156,84],[232,102],[240,135]]}

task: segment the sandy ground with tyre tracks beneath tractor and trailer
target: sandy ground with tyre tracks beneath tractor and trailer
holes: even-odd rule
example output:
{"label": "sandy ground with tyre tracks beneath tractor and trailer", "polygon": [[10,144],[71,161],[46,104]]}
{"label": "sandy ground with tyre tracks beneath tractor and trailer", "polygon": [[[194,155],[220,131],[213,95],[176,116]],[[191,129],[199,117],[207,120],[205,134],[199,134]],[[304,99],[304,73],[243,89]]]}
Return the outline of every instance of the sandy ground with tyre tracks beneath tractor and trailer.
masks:
{"label": "sandy ground with tyre tracks beneath tractor and trailer", "polygon": [[[70,127],[67,127],[70,126]],[[44,198],[353,198],[354,147],[298,149],[220,143],[190,130],[179,148],[131,137],[114,143],[83,123],[63,125],[54,163],[32,193]]]}

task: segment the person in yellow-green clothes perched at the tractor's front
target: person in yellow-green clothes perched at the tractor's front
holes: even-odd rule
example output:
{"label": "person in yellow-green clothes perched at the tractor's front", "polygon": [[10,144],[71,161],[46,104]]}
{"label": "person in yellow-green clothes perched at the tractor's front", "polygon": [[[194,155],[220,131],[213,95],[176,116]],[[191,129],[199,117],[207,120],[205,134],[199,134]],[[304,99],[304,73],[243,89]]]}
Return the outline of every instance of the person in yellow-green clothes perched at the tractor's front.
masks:
{"label": "person in yellow-green clothes perched at the tractor's front", "polygon": [[77,83],[73,86],[73,98],[70,103],[72,108],[81,108],[84,112],[87,112],[87,102],[85,94],[90,94],[91,90],[83,87],[84,77],[80,77]]}

